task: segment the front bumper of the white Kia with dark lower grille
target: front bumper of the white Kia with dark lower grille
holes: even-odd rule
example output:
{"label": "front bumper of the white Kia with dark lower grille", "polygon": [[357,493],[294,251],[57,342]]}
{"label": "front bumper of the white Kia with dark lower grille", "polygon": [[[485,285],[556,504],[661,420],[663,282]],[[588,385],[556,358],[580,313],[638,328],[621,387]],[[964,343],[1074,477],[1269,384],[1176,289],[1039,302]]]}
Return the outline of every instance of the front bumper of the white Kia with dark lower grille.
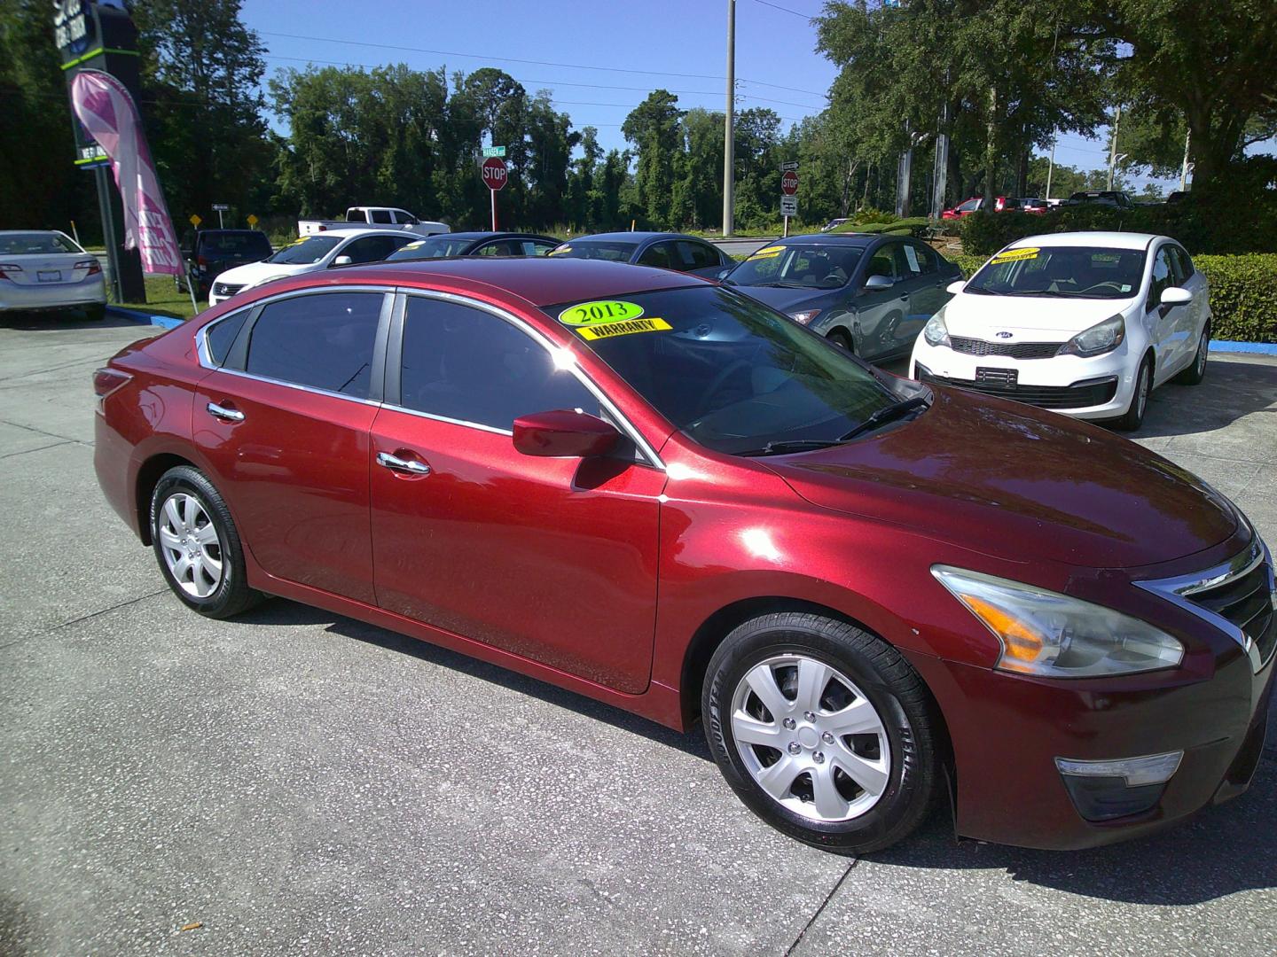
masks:
{"label": "front bumper of the white Kia with dark lower grille", "polygon": [[1075,419],[1103,420],[1116,419],[1130,407],[1138,369],[1125,342],[1112,352],[1092,359],[1013,359],[956,352],[948,346],[931,346],[919,336],[909,375],[922,382],[1050,408]]}

